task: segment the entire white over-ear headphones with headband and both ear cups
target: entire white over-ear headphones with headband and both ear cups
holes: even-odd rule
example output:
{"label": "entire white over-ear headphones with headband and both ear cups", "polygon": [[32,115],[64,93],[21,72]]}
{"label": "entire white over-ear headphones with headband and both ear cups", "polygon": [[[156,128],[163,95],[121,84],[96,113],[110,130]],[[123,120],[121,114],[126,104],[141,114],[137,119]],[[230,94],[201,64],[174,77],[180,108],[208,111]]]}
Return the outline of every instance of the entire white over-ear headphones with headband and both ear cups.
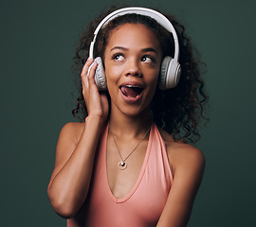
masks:
{"label": "entire white over-ear headphones with headband and both ear cups", "polygon": [[[128,13],[136,13],[144,16],[149,16],[155,21],[166,28],[169,32],[171,32],[174,36],[174,59],[170,56],[166,56],[162,63],[161,63],[161,71],[159,75],[158,80],[158,86],[161,90],[173,88],[178,83],[178,80],[180,78],[180,64],[178,62],[179,57],[179,45],[178,45],[178,39],[176,32],[174,30],[174,26],[172,23],[161,13],[153,10],[153,9],[146,9],[146,8],[123,8],[118,9],[109,15],[107,15],[97,26],[97,28],[94,31],[94,38],[93,41],[90,44],[90,51],[89,51],[89,57],[94,58],[93,52],[94,52],[94,44],[96,42],[97,35],[101,29],[101,27],[106,26],[110,21],[112,21],[114,18],[128,14]],[[106,77],[104,73],[103,64],[101,61],[101,57],[97,57],[95,61],[98,62],[98,66],[95,73],[95,83],[100,91],[107,90],[106,85]]]}

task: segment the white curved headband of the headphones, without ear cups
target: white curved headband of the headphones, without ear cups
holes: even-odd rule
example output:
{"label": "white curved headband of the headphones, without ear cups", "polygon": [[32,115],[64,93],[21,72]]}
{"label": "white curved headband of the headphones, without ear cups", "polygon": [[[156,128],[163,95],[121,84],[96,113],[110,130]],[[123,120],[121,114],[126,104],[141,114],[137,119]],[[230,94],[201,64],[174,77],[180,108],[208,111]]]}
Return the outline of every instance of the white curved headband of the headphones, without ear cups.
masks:
{"label": "white curved headband of the headphones, without ear cups", "polygon": [[94,31],[94,38],[93,41],[91,42],[90,45],[90,50],[89,50],[89,56],[91,58],[93,58],[93,49],[94,49],[94,44],[96,42],[96,38],[97,35],[101,29],[101,27],[106,26],[110,21],[112,21],[113,19],[115,19],[118,16],[122,16],[128,13],[136,13],[136,14],[140,14],[140,15],[144,15],[144,16],[149,16],[153,19],[155,19],[155,21],[163,26],[164,28],[166,28],[169,32],[171,32],[174,36],[174,60],[178,61],[178,57],[179,57],[179,44],[178,44],[178,39],[177,39],[177,35],[174,29],[174,26],[172,25],[172,23],[161,13],[155,11],[154,9],[147,9],[147,8],[123,8],[123,9],[118,9],[112,13],[110,13],[109,15],[107,15],[99,24],[99,26],[96,27],[95,31]]}

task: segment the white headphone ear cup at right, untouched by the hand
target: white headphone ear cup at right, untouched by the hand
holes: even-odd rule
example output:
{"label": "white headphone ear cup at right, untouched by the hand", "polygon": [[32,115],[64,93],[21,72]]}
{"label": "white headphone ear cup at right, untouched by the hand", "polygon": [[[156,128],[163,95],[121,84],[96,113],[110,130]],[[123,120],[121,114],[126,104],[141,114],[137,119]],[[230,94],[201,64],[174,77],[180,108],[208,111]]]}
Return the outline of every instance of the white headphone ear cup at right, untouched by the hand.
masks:
{"label": "white headphone ear cup at right, untouched by the hand", "polygon": [[160,90],[174,88],[180,79],[180,64],[170,56],[163,59],[159,75],[158,86]]}

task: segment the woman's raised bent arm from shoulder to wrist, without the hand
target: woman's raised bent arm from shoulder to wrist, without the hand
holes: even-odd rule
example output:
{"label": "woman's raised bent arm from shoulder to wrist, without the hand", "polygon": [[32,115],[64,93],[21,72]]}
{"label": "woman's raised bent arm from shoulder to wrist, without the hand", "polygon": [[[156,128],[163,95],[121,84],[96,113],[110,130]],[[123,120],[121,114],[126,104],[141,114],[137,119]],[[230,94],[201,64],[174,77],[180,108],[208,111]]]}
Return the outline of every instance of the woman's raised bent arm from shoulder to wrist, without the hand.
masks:
{"label": "woman's raised bent arm from shoulder to wrist, without the hand", "polygon": [[48,197],[54,210],[70,218],[86,199],[95,150],[100,135],[97,119],[86,118],[78,144],[72,132],[75,123],[68,123],[60,133],[56,149],[56,164],[48,184]]}

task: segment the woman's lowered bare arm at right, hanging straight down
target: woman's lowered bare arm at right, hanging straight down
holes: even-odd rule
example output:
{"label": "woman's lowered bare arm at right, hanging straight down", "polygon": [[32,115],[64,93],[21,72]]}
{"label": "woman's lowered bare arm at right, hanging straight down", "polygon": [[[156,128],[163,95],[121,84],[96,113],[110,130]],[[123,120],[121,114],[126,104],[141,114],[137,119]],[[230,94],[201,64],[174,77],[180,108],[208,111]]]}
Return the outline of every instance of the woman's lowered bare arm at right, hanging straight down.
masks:
{"label": "woman's lowered bare arm at right, hanging straight down", "polygon": [[175,149],[170,162],[174,183],[157,227],[185,227],[202,181],[205,158],[199,149],[184,145]]}

